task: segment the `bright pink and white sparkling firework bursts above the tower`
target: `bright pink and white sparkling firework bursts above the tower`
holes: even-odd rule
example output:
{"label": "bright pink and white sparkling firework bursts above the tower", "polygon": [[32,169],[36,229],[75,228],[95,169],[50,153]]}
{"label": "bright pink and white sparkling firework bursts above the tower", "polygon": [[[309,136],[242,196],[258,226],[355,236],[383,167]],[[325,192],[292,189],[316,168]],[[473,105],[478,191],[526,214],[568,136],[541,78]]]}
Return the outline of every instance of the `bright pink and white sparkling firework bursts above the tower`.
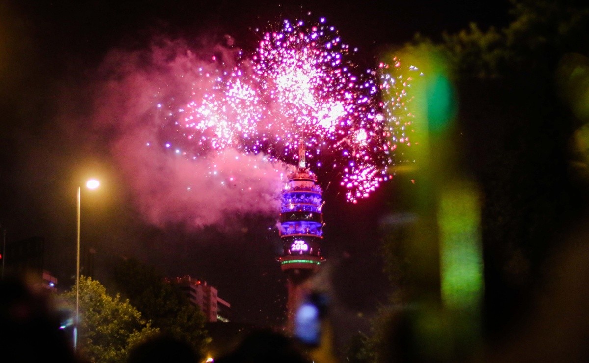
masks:
{"label": "bright pink and white sparkling firework bursts above the tower", "polygon": [[358,71],[355,50],[323,18],[278,28],[261,35],[256,51],[240,51],[229,69],[213,62],[199,70],[193,101],[173,114],[183,152],[231,148],[296,165],[305,149],[314,172],[335,169],[348,201],[368,197],[389,178],[391,105],[379,97],[398,90],[395,80]]}

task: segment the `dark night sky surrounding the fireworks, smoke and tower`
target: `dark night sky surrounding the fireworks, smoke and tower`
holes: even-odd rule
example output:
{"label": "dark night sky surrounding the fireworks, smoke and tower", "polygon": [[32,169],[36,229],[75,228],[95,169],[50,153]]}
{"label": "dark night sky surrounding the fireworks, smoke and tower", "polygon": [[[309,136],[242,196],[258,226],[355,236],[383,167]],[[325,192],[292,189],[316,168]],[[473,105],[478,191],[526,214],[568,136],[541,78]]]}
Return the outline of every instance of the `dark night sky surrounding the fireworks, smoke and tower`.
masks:
{"label": "dark night sky surrounding the fireworks, smoke and tower", "polygon": [[[360,4],[362,3],[362,4]],[[88,84],[114,48],[143,49],[157,35],[194,46],[221,42],[253,49],[254,28],[311,12],[325,16],[360,62],[420,32],[435,39],[477,22],[507,22],[507,1],[10,1],[0,5],[0,224],[8,242],[46,241],[46,269],[68,287],[75,275],[75,191],[88,176],[98,191],[82,192],[82,247],[96,252],[96,277],[108,285],[113,261],[137,257],[168,276],[192,275],[219,289],[234,321],[274,324],[286,289],[274,261],[276,215],[237,216],[224,225],[158,227],[145,222],[132,187],[117,166],[110,133],[85,116],[95,98]],[[120,132],[120,130],[118,130]],[[322,181],[325,188],[329,181]],[[337,309],[350,328],[366,327],[387,281],[379,258],[379,221],[395,200],[393,179],[357,205],[326,188],[325,243]],[[203,207],[199,207],[203,208]],[[238,226],[235,228],[235,226]],[[362,312],[362,315],[358,313]],[[356,325],[355,325],[356,324]]]}

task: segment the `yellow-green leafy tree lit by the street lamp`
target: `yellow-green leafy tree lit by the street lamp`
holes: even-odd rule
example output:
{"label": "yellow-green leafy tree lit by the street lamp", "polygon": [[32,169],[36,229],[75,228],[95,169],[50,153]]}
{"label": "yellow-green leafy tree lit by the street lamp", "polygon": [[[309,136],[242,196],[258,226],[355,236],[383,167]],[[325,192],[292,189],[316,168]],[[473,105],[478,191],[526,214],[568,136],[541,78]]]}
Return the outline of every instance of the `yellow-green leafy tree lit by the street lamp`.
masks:
{"label": "yellow-green leafy tree lit by the street lamp", "polygon": [[[75,285],[62,298],[75,307]],[[157,334],[128,299],[111,297],[100,282],[80,277],[77,349],[92,362],[122,362],[130,348]]]}

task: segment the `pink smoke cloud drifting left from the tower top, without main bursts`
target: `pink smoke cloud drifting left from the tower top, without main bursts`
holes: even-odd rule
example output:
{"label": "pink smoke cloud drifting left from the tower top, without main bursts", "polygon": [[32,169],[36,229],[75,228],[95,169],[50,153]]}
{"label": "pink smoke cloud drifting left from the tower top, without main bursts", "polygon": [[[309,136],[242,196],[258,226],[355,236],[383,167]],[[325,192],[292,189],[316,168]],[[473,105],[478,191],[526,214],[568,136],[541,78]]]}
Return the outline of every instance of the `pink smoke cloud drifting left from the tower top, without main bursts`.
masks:
{"label": "pink smoke cloud drifting left from the tower top, without main bursts", "polygon": [[203,227],[277,213],[287,165],[234,148],[196,155],[167,142],[178,138],[170,127],[181,117],[175,109],[210,88],[203,69],[231,66],[235,54],[220,45],[197,52],[182,41],[158,41],[147,50],[112,51],[98,69],[92,126],[110,138],[145,221]]}

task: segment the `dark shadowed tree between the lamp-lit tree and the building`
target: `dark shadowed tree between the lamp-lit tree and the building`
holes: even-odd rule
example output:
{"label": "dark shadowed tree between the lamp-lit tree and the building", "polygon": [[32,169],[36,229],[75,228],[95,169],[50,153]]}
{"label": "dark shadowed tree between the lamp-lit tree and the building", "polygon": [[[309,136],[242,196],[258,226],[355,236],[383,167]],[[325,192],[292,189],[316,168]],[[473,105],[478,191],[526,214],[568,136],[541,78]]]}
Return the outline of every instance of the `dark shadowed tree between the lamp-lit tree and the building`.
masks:
{"label": "dark shadowed tree between the lamp-lit tree and the building", "polygon": [[164,277],[137,259],[124,259],[115,268],[118,291],[137,307],[162,333],[188,342],[202,354],[209,342],[204,315],[198,307]]}

